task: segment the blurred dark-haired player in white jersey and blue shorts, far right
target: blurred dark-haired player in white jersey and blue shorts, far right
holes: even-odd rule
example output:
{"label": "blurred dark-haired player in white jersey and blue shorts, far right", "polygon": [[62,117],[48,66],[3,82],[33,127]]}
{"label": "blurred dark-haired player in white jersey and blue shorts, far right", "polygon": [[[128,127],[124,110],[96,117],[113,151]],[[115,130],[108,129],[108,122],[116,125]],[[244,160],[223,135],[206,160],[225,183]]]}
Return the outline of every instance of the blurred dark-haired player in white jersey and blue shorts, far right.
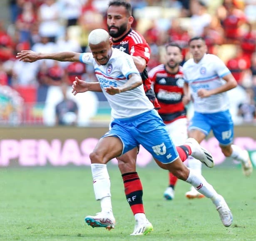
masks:
{"label": "blurred dark-haired player in white jersey and blue shorts, far right", "polygon": [[234,140],[234,125],[229,113],[229,99],[226,91],[237,86],[236,80],[216,55],[206,54],[207,47],[202,37],[189,40],[193,56],[183,66],[184,79],[192,91],[194,116],[189,124],[189,137],[201,143],[212,130],[219,141],[221,151],[242,164],[244,175],[253,171],[249,154]]}

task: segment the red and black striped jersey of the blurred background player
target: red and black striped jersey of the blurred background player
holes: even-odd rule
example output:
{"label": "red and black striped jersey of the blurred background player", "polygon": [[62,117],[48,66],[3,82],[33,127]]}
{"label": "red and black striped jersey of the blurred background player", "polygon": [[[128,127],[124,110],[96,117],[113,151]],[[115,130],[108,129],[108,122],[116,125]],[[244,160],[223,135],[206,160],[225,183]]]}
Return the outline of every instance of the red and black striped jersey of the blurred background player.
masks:
{"label": "red and black striped jersey of the blurred background player", "polygon": [[186,108],[182,103],[184,79],[182,67],[176,74],[170,74],[164,64],[149,71],[149,79],[154,85],[154,92],[161,106],[159,115],[164,123],[171,123],[178,118],[186,118]]}

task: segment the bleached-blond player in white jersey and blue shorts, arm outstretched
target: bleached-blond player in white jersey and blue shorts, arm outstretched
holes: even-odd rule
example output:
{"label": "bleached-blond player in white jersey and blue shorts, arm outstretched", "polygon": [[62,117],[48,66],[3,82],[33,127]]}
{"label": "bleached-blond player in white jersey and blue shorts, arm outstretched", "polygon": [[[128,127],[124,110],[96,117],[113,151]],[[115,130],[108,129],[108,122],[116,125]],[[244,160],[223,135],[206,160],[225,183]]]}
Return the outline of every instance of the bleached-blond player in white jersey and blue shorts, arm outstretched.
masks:
{"label": "bleached-blond player in white jersey and blue shorts, arm outstretched", "polygon": [[[145,94],[142,78],[132,57],[118,49],[113,49],[112,41],[105,30],[96,29],[90,32],[88,42],[91,53],[36,53],[28,50],[17,54],[20,61],[80,60],[85,64],[93,65],[98,82],[85,82],[76,77],[72,92],[77,94],[85,91],[103,91],[111,106],[113,118],[111,129],[100,138],[90,153],[94,194],[96,200],[100,200],[102,211],[96,216],[87,216],[86,222],[93,227],[114,228],[115,219],[112,213],[110,180],[106,164],[109,160],[141,144],[162,163],[165,169],[210,198],[224,226],[230,226],[233,217],[224,198],[206,182],[202,175],[189,170],[182,163],[162,118]],[[186,148],[190,154],[194,153],[197,159],[210,162],[206,156],[211,154],[201,149],[193,138],[189,138],[183,148]],[[152,229],[147,229],[146,233],[150,231]],[[132,235],[142,234],[145,234],[145,231]]]}

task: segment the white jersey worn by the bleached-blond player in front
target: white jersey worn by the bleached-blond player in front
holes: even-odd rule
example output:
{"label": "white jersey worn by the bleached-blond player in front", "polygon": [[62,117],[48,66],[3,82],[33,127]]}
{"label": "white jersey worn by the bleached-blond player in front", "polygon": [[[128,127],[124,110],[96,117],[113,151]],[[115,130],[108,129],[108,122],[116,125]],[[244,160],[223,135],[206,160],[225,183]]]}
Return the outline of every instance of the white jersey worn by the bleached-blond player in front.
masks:
{"label": "white jersey worn by the bleached-blond player in front", "polygon": [[121,52],[119,49],[112,50],[112,55],[106,65],[97,64],[92,57],[92,53],[82,53],[80,55],[80,61],[82,63],[94,66],[95,75],[100,87],[112,109],[112,118],[130,118],[154,109],[142,85],[130,91],[124,91],[115,95],[109,95],[104,90],[104,88],[109,86],[122,86],[127,82],[129,74],[139,74],[129,54]]}

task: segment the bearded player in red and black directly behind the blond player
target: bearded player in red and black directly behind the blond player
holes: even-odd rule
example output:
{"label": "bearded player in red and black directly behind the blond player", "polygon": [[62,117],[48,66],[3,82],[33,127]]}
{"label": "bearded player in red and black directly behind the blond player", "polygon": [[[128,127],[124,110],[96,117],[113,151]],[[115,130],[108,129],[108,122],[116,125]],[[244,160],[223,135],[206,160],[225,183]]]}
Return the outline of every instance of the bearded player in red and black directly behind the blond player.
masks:
{"label": "bearded player in red and black directly behind the blond player", "polygon": [[[109,35],[112,38],[113,48],[130,54],[139,70],[146,96],[152,101],[154,107],[159,109],[159,104],[151,89],[151,82],[147,76],[147,62],[150,57],[150,47],[144,37],[139,32],[132,30],[134,21],[132,17],[132,7],[126,1],[110,1],[107,9],[107,27]],[[143,188],[139,175],[136,172],[138,148],[117,157],[118,167],[122,174],[124,182],[124,192],[135,218],[134,234],[152,227],[147,220],[142,195]],[[131,198],[136,197],[136,199]]]}

